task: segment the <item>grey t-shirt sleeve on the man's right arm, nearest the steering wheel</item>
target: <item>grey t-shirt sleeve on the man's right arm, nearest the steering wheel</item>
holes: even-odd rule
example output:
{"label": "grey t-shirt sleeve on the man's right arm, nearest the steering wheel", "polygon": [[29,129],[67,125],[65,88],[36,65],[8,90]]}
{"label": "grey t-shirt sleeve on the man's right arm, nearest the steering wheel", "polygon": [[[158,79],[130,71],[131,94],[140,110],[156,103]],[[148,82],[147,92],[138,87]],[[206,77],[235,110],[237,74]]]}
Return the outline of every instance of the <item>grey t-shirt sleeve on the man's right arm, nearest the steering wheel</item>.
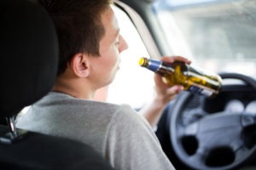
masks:
{"label": "grey t-shirt sleeve on the man's right arm, nearest the steering wheel", "polygon": [[146,120],[122,105],[113,116],[106,139],[106,158],[117,170],[172,170]]}

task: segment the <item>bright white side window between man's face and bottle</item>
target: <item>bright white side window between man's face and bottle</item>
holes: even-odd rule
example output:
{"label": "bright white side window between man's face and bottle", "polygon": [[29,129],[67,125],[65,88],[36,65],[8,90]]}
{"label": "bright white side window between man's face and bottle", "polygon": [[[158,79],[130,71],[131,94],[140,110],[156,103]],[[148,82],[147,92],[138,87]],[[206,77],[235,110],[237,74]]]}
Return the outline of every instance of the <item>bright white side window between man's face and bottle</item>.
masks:
{"label": "bright white side window between man's face and bottle", "polygon": [[154,74],[138,65],[140,57],[148,57],[136,27],[124,11],[113,7],[119,22],[120,34],[129,48],[121,55],[120,69],[108,87],[106,100],[116,104],[129,104],[137,109],[154,95]]}

